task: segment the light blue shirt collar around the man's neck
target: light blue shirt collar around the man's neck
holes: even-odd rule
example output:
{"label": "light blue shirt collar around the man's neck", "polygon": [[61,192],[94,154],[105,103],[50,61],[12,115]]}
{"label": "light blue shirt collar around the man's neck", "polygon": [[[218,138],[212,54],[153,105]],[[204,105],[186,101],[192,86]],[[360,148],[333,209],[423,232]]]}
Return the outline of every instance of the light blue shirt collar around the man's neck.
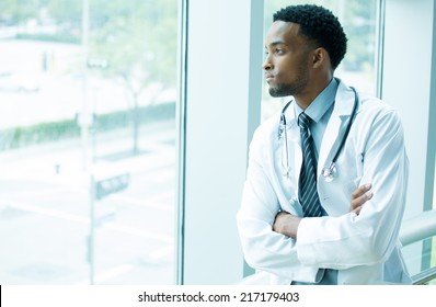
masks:
{"label": "light blue shirt collar around the man's neck", "polygon": [[326,86],[325,89],[322,90],[322,92],[312,101],[312,103],[306,110],[302,110],[301,106],[298,105],[298,103],[294,103],[296,118],[298,118],[301,112],[306,112],[306,114],[309,115],[313,122],[318,123],[334,103],[337,86],[337,80],[335,78],[332,78],[329,86]]}

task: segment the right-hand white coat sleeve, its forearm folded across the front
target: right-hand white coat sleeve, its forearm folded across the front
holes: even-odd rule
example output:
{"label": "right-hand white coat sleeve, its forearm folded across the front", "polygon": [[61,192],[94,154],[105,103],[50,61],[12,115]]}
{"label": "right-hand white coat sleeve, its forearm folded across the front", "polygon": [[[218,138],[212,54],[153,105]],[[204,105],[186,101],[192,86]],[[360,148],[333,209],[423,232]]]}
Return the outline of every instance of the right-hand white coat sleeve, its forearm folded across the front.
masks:
{"label": "right-hand white coat sleeve, its forearm folded across the front", "polygon": [[379,114],[358,134],[365,139],[360,184],[374,196],[360,214],[303,218],[297,234],[298,259],[306,265],[349,269],[386,261],[398,243],[405,206],[409,161],[403,130],[393,110]]}

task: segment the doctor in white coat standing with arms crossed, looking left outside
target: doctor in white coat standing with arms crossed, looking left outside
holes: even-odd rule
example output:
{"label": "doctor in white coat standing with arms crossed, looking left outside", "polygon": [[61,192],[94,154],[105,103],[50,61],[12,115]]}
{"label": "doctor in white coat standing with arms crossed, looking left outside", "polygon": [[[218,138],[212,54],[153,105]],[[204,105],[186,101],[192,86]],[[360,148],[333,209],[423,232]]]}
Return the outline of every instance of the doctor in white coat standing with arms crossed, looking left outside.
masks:
{"label": "doctor in white coat standing with arms crossed, looking left outside", "polygon": [[294,99],[253,136],[238,228],[273,284],[411,283],[398,239],[403,129],[390,105],[333,77],[346,41],[317,5],[276,12],[266,36],[269,93]]}

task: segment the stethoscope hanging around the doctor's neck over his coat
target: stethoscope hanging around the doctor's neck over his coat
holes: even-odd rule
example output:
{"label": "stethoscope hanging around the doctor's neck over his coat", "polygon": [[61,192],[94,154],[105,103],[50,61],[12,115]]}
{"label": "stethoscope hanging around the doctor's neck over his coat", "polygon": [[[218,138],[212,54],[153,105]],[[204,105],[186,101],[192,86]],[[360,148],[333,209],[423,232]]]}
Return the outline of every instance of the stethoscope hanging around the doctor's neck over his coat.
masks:
{"label": "stethoscope hanging around the doctor's neck over his coat", "polygon": [[[321,171],[322,177],[324,178],[324,180],[326,182],[331,182],[334,178],[337,177],[337,168],[336,168],[336,159],[340,156],[342,149],[344,148],[346,138],[348,137],[348,133],[349,129],[352,128],[353,125],[353,121],[354,117],[356,116],[356,111],[357,111],[357,105],[359,103],[359,96],[358,93],[356,91],[355,88],[351,87],[353,92],[354,92],[354,106],[353,106],[353,111],[352,111],[352,115],[349,117],[348,124],[346,126],[345,133],[342,136],[340,146],[336,149],[336,152],[333,156],[333,159],[330,163],[328,163]],[[282,174],[284,177],[289,178],[290,175],[290,167],[289,167],[289,156],[288,156],[288,136],[287,136],[287,130],[286,130],[286,116],[285,116],[285,112],[288,109],[288,106],[291,104],[292,100],[289,101],[282,110],[282,114],[280,114],[280,124],[278,126],[278,138],[284,139],[284,145],[282,148]],[[283,151],[285,151],[285,156],[286,156],[286,164],[284,164],[284,160],[283,159]]]}

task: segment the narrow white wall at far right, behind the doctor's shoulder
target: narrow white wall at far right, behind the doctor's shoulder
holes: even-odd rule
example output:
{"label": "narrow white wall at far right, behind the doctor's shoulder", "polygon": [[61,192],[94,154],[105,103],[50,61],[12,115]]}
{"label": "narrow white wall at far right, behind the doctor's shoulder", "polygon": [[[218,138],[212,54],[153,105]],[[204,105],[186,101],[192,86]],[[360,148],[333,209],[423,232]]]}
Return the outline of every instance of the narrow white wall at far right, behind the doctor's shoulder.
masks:
{"label": "narrow white wall at far right, behind the doctor's shoulder", "polygon": [[[436,146],[436,48],[433,0],[386,0],[382,99],[403,120],[410,158],[405,218],[432,208]],[[420,255],[410,249],[408,259]],[[427,259],[428,260],[428,259]],[[427,261],[424,260],[424,261]],[[418,262],[411,263],[418,271]]]}

